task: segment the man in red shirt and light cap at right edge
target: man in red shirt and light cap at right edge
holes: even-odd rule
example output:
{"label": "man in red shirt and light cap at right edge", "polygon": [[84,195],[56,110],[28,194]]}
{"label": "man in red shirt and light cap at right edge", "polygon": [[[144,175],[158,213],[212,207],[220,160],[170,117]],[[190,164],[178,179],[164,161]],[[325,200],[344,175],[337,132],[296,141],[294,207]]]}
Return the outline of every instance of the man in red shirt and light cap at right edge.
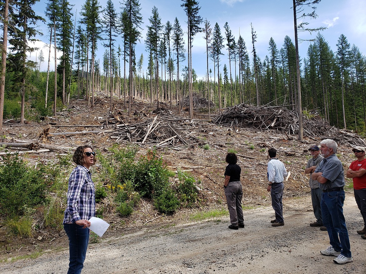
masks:
{"label": "man in red shirt and light cap at right edge", "polygon": [[357,233],[366,239],[366,148],[356,146],[352,151],[355,153],[357,160],[353,161],[347,170],[347,178],[353,179],[353,189],[358,209],[361,211],[364,226]]}

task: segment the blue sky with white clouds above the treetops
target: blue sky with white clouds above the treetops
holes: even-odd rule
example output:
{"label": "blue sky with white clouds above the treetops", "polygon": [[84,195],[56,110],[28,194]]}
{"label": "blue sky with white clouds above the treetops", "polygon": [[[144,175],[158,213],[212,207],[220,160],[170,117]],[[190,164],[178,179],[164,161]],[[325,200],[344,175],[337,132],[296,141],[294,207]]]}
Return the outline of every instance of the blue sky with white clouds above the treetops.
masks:
{"label": "blue sky with white clouds above the treetops", "polygon": [[[100,5],[105,6],[106,0],[100,0]],[[34,10],[38,15],[44,16],[44,7],[46,1],[41,0],[34,7]],[[74,4],[73,13],[77,9],[77,17],[81,11],[81,6],[84,1],[73,1],[70,0],[71,4]],[[141,43],[136,46],[137,58],[143,53],[144,56],[144,70],[146,70],[146,59],[147,52],[145,51],[145,34],[146,25],[149,24],[149,17],[152,14],[152,8],[155,5],[158,9],[161,17],[161,23],[165,24],[168,20],[173,23],[175,17],[178,18],[183,31],[187,31],[186,28],[186,14],[180,4],[180,0],[140,0],[141,13],[143,16],[142,24],[142,38]],[[120,11],[119,1],[115,1],[115,8],[117,12]],[[259,58],[263,61],[268,52],[268,42],[272,37],[277,44],[277,48],[280,49],[283,45],[283,41],[286,35],[288,35],[294,42],[294,21],[293,21],[293,10],[292,0],[201,0],[199,1],[201,10],[199,14],[203,20],[206,18],[209,20],[211,27],[217,22],[221,28],[221,33],[224,36],[224,24],[228,22],[228,25],[235,36],[235,40],[238,40],[239,32],[242,35],[248,53],[252,57],[252,45],[251,45],[251,27],[250,23],[253,24],[254,31],[257,33],[257,42],[255,47]],[[360,51],[366,54],[366,0],[322,0],[318,4],[316,13],[318,14],[317,19],[307,19],[310,23],[309,27],[328,27],[322,31],[321,34],[325,40],[328,41],[330,48],[333,52],[336,51],[336,43],[341,34],[344,34],[348,42],[355,44],[359,47]],[[299,22],[298,22],[299,23]],[[41,26],[42,27],[42,26]],[[46,34],[45,27],[44,33]],[[312,39],[315,38],[317,33],[299,33],[301,39]],[[186,37],[186,34],[185,34]],[[40,37],[43,42],[49,43],[49,37],[44,35]],[[116,42],[122,45],[121,40]],[[187,43],[186,43],[187,44]],[[299,44],[300,58],[306,57],[307,48],[310,42],[305,41]],[[37,43],[38,47],[42,47],[42,43]],[[98,46],[97,58],[102,58],[104,47]],[[41,69],[46,70],[48,60],[48,49],[43,48],[45,62],[42,64]],[[222,71],[223,64],[227,60],[226,47],[222,50],[225,54],[221,56],[220,70]],[[198,78],[205,77],[206,70],[206,41],[203,39],[203,34],[198,33],[194,37],[193,41],[193,68],[195,69]],[[51,55],[52,56],[52,55]],[[31,59],[35,60],[36,53],[32,53]],[[212,63],[212,61],[209,61]],[[183,65],[187,65],[185,61]],[[212,68],[213,64],[209,64]],[[232,73],[234,75],[234,68],[232,67]],[[145,72],[146,75],[146,72]],[[213,75],[212,75],[213,77]]]}

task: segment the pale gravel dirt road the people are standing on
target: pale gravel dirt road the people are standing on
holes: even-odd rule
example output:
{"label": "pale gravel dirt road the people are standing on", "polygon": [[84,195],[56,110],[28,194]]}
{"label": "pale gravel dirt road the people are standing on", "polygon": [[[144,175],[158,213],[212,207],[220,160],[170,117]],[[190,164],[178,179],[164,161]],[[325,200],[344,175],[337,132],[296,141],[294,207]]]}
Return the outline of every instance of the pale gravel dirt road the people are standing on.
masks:
{"label": "pale gravel dirt road the people are standing on", "polygon": [[[311,228],[310,195],[284,201],[285,225],[271,227],[272,208],[245,212],[246,227],[227,229],[229,218],[164,228],[146,228],[90,244],[82,273],[366,273],[366,240],[352,191],[346,193],[344,212],[354,262],[333,263],[320,250],[329,246],[328,233]],[[67,240],[65,236],[65,241]],[[34,260],[0,265],[0,273],[66,273],[68,250]]]}

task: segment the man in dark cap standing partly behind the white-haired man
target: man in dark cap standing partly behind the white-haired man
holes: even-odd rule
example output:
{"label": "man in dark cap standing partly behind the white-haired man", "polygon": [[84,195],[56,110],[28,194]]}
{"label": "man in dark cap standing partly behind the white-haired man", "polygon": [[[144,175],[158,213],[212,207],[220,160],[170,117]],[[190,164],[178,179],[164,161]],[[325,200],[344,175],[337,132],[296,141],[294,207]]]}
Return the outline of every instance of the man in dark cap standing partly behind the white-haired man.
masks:
{"label": "man in dark cap standing partly behind the white-haired man", "polygon": [[324,157],[320,155],[320,149],[317,145],[310,146],[308,150],[312,157],[307,161],[305,173],[310,174],[309,186],[311,190],[311,203],[313,204],[314,215],[317,219],[315,222],[310,223],[310,227],[320,227],[320,230],[326,231],[326,227],[323,226],[320,208],[321,195],[323,191],[320,189],[318,181],[311,179],[311,174],[315,171]]}

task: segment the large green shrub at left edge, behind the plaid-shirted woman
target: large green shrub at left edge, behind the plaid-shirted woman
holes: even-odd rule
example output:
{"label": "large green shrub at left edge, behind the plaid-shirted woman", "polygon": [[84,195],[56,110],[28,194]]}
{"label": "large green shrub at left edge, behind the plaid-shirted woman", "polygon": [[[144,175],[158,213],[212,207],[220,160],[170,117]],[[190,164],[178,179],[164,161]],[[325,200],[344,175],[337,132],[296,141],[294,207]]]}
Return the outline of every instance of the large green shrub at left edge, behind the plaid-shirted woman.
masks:
{"label": "large green shrub at left edge, behind the plaid-shirted woman", "polygon": [[3,156],[0,166],[0,214],[22,215],[24,206],[32,208],[45,200],[45,166],[28,167],[18,155]]}

